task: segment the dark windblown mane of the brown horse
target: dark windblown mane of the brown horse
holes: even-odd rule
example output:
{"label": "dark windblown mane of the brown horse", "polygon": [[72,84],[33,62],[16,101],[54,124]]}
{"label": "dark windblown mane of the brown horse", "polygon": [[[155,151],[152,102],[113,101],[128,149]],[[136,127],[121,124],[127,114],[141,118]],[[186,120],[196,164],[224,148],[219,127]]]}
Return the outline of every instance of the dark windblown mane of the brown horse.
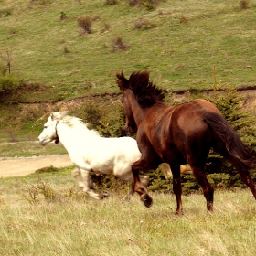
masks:
{"label": "dark windblown mane of the brown horse", "polygon": [[163,103],[165,91],[156,87],[149,81],[149,71],[133,72],[129,80],[121,74],[117,74],[117,83],[122,90],[131,89],[142,107],[148,107],[155,103]]}

